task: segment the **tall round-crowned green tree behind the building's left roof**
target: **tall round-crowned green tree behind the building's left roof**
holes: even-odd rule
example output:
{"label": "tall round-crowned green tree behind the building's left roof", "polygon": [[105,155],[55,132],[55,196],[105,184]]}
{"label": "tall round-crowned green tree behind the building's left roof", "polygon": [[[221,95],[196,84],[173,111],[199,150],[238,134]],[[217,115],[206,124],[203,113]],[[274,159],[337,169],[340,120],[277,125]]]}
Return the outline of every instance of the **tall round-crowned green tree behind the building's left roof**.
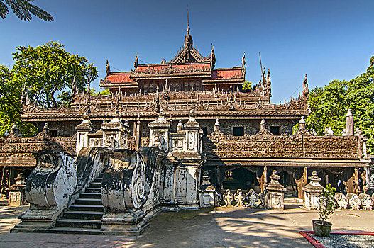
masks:
{"label": "tall round-crowned green tree behind the building's left roof", "polygon": [[[26,84],[28,97],[44,108],[70,104],[73,83],[84,91],[89,81],[97,78],[97,69],[85,57],[72,55],[60,43],[50,42],[38,47],[17,47],[13,53],[13,82]],[[60,92],[55,100],[56,92]]]}

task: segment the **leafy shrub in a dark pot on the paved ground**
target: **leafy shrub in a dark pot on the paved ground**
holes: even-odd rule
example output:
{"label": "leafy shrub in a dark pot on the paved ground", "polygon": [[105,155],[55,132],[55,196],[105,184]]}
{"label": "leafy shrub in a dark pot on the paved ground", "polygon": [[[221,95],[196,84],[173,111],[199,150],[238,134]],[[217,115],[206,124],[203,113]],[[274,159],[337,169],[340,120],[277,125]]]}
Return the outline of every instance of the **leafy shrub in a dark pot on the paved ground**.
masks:
{"label": "leafy shrub in a dark pot on the paved ground", "polygon": [[314,235],[318,237],[329,237],[332,223],[329,220],[330,215],[334,213],[334,193],[336,189],[331,184],[326,186],[318,200],[317,213],[319,220],[312,220]]}

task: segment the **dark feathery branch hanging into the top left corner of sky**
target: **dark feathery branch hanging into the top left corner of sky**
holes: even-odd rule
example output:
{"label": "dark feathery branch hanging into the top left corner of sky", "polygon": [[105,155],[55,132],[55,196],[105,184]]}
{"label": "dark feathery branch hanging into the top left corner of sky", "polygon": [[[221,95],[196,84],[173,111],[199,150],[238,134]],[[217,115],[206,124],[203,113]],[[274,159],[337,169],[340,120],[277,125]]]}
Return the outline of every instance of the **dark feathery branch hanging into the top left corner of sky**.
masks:
{"label": "dark feathery branch hanging into the top left corner of sky", "polygon": [[47,11],[31,4],[34,0],[0,0],[0,17],[5,19],[9,13],[9,8],[23,21],[31,21],[32,16],[36,16],[44,21],[53,21]]}

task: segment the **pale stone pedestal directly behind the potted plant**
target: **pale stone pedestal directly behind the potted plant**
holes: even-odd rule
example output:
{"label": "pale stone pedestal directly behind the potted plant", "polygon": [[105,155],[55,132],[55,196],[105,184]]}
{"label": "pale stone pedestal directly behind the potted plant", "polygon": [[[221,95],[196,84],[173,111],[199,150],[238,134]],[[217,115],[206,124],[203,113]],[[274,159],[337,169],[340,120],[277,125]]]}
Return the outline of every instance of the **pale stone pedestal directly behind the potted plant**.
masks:
{"label": "pale stone pedestal directly behind the potted plant", "polygon": [[316,171],[312,172],[312,176],[309,176],[309,184],[302,187],[304,191],[304,200],[305,200],[305,208],[312,210],[316,209],[318,206],[319,196],[324,191],[324,187],[319,184],[321,178],[318,177]]}

